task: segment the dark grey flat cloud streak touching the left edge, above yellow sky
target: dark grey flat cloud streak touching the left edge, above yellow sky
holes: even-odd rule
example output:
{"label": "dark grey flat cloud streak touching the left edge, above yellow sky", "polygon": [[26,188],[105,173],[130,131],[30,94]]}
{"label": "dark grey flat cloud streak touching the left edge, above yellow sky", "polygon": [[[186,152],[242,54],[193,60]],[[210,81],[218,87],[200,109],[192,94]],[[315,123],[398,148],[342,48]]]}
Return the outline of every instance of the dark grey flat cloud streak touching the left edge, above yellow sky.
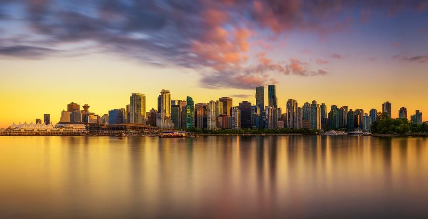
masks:
{"label": "dark grey flat cloud streak touching the left edge, above yellow sky", "polygon": [[58,50],[34,46],[0,47],[0,55],[23,58],[42,58],[43,56],[56,52],[58,52]]}

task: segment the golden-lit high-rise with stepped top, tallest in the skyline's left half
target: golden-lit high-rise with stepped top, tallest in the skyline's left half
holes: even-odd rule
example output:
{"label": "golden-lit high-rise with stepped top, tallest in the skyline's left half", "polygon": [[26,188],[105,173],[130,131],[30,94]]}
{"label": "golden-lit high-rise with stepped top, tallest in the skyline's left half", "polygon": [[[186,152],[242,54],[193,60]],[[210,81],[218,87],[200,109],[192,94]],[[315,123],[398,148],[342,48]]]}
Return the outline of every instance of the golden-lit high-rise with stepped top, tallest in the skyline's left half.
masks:
{"label": "golden-lit high-rise with stepped top, tallest in the skyline's left half", "polygon": [[[161,94],[158,96],[158,109],[158,113],[156,114],[156,127],[161,129],[174,128],[174,123],[171,119],[171,94],[169,90],[161,90]],[[192,110],[194,111],[194,109]],[[192,116],[193,115],[194,112],[192,113]]]}

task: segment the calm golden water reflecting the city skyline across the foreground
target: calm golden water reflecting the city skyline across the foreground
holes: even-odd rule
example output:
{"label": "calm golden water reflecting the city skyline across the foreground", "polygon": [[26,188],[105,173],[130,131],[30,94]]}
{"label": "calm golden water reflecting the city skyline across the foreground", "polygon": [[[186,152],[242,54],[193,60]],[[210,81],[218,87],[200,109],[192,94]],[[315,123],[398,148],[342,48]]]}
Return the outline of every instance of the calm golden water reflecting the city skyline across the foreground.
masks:
{"label": "calm golden water reflecting the city skyline across the foreground", "polygon": [[0,137],[0,218],[428,218],[428,138]]}

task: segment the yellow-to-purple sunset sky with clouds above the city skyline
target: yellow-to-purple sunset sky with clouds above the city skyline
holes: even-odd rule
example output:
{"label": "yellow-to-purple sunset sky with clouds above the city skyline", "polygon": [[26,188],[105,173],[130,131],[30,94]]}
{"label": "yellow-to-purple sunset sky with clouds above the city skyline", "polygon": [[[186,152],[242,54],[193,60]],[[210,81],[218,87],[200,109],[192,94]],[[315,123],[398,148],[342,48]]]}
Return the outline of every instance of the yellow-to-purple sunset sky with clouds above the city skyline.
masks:
{"label": "yellow-to-purple sunset sky with clouds above the city skyline", "polygon": [[[255,87],[367,112],[428,113],[428,1],[0,0],[0,127],[100,116],[131,93],[255,104]],[[426,120],[426,118],[424,119]]]}

